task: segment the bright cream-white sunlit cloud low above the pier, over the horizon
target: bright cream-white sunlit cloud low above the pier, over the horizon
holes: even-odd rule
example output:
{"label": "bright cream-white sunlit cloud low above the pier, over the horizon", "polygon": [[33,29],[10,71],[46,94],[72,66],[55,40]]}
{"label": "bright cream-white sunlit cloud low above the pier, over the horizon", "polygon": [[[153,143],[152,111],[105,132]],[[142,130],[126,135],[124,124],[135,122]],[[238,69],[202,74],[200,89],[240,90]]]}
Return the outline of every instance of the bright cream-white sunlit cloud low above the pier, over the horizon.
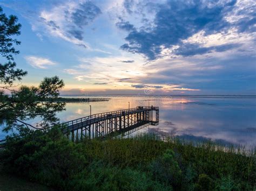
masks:
{"label": "bright cream-white sunlit cloud low above the pier, over the horizon", "polygon": [[[198,88],[192,88],[184,82],[173,81],[172,76],[177,78],[177,75],[180,73],[179,77],[182,78],[187,74],[187,70],[190,68],[194,70],[195,73],[206,68],[203,66],[190,67],[191,64],[187,63],[186,65],[185,61],[180,61],[178,65],[175,66],[170,60],[162,60],[161,62],[158,61],[157,63],[144,66],[144,60],[136,59],[136,65],[129,65],[129,72],[127,72],[126,66],[124,66],[120,60],[130,59],[119,56],[110,56],[109,58],[80,58],[80,63],[77,66],[65,69],[65,72],[73,75],[73,78],[77,81],[83,81],[85,86],[106,83],[106,88],[132,88],[133,90],[151,89],[154,93],[160,93],[160,91],[167,93],[170,91],[198,90]],[[90,63],[93,63],[93,67],[90,66]],[[109,67],[110,64],[114,67]],[[158,67],[159,64],[163,66],[163,68]],[[183,65],[186,70],[183,71],[180,65]],[[220,66],[209,67],[212,67],[212,70],[217,70]],[[170,74],[167,74],[168,72],[170,72]]]}

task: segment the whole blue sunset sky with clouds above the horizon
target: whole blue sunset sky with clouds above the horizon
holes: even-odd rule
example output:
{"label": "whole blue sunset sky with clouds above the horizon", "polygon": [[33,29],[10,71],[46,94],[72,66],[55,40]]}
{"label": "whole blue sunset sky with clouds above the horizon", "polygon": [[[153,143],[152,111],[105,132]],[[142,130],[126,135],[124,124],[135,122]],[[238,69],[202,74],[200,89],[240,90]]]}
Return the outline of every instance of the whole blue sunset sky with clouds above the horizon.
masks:
{"label": "whole blue sunset sky with clouds above the horizon", "polygon": [[[256,1],[1,0],[22,84],[62,94],[256,95]],[[21,84],[21,83],[19,83]]]}

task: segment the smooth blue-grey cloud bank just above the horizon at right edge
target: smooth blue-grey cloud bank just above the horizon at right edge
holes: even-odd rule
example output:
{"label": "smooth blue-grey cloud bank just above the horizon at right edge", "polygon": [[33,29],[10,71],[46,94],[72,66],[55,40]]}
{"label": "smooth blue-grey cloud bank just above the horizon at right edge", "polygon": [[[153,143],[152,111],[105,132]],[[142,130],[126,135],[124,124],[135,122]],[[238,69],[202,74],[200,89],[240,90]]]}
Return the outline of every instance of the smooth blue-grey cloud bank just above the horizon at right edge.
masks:
{"label": "smooth blue-grey cloud bank just above the horizon at right edge", "polygon": [[[231,54],[225,58],[183,58],[188,65],[181,66],[169,59],[160,63],[162,69],[150,73],[143,84],[182,84],[183,87],[200,89],[201,95],[255,95],[255,56]],[[150,68],[157,68],[155,63]],[[177,65],[177,67],[175,66]],[[187,92],[186,92],[187,93]],[[195,94],[194,91],[192,94]]]}

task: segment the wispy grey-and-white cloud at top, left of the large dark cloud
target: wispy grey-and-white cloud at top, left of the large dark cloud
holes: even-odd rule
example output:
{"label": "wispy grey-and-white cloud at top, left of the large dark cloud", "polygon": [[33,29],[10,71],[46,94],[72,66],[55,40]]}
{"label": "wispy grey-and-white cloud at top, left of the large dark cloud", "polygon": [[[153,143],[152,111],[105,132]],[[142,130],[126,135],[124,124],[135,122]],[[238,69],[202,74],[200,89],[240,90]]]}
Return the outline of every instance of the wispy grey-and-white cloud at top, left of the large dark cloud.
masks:
{"label": "wispy grey-and-white cloud at top, left of the large dark cloud", "polygon": [[50,10],[41,11],[39,23],[38,20],[33,22],[32,29],[36,31],[46,29],[52,36],[86,48],[87,45],[83,41],[84,29],[101,13],[98,6],[90,1],[65,2],[53,6]]}

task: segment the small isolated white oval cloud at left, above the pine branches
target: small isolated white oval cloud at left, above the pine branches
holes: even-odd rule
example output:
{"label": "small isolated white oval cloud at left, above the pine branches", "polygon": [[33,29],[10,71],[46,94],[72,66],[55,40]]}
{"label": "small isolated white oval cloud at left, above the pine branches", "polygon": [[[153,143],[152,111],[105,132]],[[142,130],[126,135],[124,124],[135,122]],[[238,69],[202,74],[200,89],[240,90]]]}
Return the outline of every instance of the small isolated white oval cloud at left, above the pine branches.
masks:
{"label": "small isolated white oval cloud at left, above the pine branches", "polygon": [[46,69],[47,66],[57,65],[56,62],[38,56],[25,56],[25,59],[34,68]]}

